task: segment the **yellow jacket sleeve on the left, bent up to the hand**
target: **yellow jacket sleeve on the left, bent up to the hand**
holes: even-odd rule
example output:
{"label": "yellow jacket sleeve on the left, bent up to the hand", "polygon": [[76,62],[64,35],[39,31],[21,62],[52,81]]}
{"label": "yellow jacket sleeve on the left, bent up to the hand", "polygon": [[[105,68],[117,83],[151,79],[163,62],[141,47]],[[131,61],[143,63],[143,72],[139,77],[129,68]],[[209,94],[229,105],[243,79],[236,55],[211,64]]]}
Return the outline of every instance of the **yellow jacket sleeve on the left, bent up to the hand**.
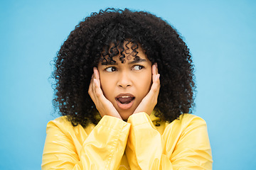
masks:
{"label": "yellow jacket sleeve on the left, bent up to the hand", "polygon": [[[129,123],[105,115],[83,139],[81,149],[59,126],[54,121],[47,125],[42,169],[117,169],[127,145]],[[73,134],[70,129],[66,129],[68,134]]]}

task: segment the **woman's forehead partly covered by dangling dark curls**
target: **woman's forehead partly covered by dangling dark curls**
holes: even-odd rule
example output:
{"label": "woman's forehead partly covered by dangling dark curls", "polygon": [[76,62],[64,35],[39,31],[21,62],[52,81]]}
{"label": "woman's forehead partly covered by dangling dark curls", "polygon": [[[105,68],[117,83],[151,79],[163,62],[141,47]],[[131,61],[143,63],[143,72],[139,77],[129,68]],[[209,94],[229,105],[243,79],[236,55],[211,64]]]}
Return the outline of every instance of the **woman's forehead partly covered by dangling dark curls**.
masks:
{"label": "woman's forehead partly covered by dangling dark curls", "polygon": [[112,43],[109,47],[102,50],[100,63],[102,65],[109,64],[125,64],[142,62],[148,60],[145,51],[139,43],[130,42],[129,40],[119,43]]}

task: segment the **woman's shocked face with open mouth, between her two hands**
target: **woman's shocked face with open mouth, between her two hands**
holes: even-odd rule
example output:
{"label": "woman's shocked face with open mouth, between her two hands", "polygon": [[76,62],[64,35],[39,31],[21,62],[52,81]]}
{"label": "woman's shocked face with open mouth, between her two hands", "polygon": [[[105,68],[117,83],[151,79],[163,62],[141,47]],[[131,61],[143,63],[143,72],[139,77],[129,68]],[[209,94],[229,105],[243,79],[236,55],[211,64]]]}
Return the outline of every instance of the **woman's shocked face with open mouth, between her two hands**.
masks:
{"label": "woman's shocked face with open mouth, between her two hands", "polygon": [[119,56],[116,56],[113,57],[116,61],[114,64],[102,65],[100,62],[97,67],[103,94],[123,120],[127,120],[134,113],[151,88],[152,64],[141,47],[138,52],[139,61],[135,62],[134,57],[129,56],[122,63]]}

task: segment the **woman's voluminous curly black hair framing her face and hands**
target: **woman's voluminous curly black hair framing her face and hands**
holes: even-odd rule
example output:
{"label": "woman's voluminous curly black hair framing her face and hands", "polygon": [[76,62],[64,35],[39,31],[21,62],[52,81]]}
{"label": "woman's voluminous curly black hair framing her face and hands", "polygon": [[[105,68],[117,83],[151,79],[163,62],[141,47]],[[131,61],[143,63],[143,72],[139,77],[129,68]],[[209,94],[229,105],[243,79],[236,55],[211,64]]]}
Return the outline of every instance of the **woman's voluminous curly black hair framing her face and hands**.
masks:
{"label": "woman's voluminous curly black hair framing her face and hands", "polygon": [[[163,19],[144,11],[107,8],[75,26],[54,59],[53,106],[75,125],[98,123],[95,103],[88,94],[92,68],[99,62],[124,62],[124,42],[132,42],[134,60],[140,45],[151,63],[157,63],[161,88],[156,116],[171,123],[194,106],[194,66],[186,43]],[[118,50],[117,50],[118,49]],[[103,58],[103,60],[102,60]]]}

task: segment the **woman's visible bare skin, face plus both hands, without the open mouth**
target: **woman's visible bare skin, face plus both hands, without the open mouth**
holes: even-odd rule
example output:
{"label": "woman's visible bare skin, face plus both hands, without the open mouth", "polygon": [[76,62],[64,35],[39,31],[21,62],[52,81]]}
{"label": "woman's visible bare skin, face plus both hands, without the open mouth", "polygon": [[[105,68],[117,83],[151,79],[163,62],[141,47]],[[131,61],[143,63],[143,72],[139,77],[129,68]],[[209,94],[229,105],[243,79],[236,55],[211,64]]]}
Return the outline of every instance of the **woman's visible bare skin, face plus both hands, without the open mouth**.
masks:
{"label": "woman's visible bare skin, face plus both hands, without the open mouth", "polygon": [[[138,52],[139,62],[127,60],[122,64],[116,56],[113,57],[116,64],[99,63],[93,69],[88,93],[102,117],[110,115],[127,120],[134,113],[150,115],[156,106],[160,89],[157,64],[151,64],[142,48]],[[117,101],[120,94],[134,96],[132,106],[120,107]]]}

